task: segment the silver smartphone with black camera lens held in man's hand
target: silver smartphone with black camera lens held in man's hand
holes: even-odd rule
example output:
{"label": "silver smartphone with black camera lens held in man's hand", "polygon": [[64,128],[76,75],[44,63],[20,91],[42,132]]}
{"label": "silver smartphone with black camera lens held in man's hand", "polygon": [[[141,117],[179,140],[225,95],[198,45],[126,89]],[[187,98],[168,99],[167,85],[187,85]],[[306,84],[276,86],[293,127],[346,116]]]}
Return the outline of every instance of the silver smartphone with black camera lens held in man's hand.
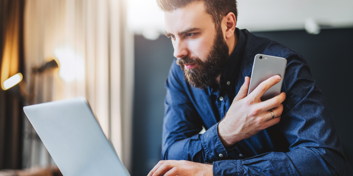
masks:
{"label": "silver smartphone with black camera lens held in man's hand", "polygon": [[266,101],[279,95],[281,93],[286,67],[287,59],[285,58],[257,54],[252,66],[250,86],[247,94],[249,95],[253,90],[255,90],[261,82],[272,76],[279,75],[281,76],[281,81],[268,89],[261,97],[261,101]]}

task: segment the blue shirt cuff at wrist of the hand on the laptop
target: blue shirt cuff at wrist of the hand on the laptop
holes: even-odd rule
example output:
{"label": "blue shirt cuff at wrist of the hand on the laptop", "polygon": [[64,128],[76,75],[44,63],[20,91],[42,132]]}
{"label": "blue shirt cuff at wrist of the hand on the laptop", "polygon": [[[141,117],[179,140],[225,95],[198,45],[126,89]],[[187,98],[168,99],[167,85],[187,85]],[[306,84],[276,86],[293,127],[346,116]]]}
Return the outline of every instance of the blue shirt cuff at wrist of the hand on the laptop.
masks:
{"label": "blue shirt cuff at wrist of the hand on the laptop", "polygon": [[214,176],[243,175],[241,159],[213,162]]}

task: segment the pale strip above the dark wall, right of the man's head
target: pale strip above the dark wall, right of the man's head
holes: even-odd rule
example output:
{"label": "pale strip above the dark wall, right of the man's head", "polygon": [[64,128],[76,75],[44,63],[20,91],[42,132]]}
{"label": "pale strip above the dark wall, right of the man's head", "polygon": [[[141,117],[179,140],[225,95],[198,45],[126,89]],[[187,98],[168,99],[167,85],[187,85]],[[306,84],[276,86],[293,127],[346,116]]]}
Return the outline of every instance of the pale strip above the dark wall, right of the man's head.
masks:
{"label": "pale strip above the dark wall, right of the man's head", "polygon": [[238,27],[251,31],[304,29],[308,19],[353,27],[353,0],[238,0],[238,11]]}

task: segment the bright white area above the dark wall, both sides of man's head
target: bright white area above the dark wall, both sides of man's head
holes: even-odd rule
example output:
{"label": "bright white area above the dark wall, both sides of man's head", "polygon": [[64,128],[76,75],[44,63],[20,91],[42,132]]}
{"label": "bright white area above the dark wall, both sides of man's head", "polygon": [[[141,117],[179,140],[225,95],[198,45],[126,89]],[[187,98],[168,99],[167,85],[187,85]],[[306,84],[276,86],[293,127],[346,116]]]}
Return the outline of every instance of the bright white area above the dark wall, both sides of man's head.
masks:
{"label": "bright white area above the dark wall, both sides of man's head", "polygon": [[[146,38],[164,32],[156,0],[128,0],[128,27]],[[353,0],[238,0],[237,27],[249,31],[299,30],[306,21],[322,28],[353,27]]]}

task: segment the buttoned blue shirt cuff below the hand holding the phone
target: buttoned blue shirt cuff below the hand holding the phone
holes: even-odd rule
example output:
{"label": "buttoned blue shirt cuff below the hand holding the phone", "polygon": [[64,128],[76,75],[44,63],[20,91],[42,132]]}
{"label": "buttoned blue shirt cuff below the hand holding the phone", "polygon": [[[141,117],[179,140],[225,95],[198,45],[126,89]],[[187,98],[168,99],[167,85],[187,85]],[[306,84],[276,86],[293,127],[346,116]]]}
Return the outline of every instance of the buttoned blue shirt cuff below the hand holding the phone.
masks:
{"label": "buttoned blue shirt cuff below the hand holding the phone", "polygon": [[202,147],[206,153],[206,159],[210,162],[226,159],[229,155],[218,136],[218,124],[213,125],[200,136]]}

